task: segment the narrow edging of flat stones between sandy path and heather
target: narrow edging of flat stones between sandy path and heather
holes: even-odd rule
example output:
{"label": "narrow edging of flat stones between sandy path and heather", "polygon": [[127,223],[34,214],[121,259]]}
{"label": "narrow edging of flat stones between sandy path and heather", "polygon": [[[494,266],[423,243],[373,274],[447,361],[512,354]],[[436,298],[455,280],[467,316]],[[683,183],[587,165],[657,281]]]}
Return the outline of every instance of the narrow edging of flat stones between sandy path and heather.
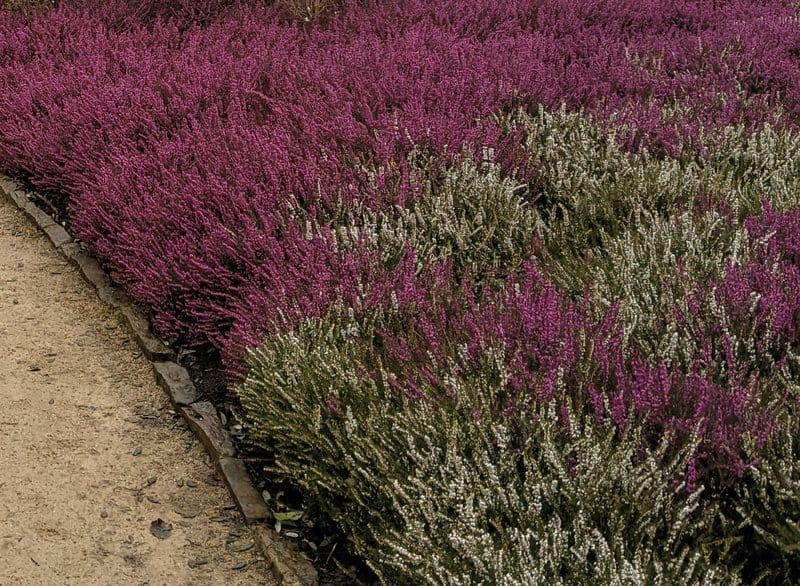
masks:
{"label": "narrow edging of flat stones between sandy path and heather", "polygon": [[250,526],[255,542],[267,559],[273,575],[283,586],[316,586],[317,571],[297,551],[267,524],[271,513],[253,486],[244,462],[237,458],[230,434],[222,426],[216,407],[200,401],[189,375],[176,360],[175,351],[150,331],[145,315],[130,297],[116,288],[100,264],[47,213],[33,203],[26,191],[14,180],[0,176],[0,192],[22,210],[47,234],[53,246],[80,271],[83,278],[97,291],[98,297],[124,317],[133,338],[153,366],[155,378],[194,434],[203,443],[211,460],[233,497],[239,511]]}

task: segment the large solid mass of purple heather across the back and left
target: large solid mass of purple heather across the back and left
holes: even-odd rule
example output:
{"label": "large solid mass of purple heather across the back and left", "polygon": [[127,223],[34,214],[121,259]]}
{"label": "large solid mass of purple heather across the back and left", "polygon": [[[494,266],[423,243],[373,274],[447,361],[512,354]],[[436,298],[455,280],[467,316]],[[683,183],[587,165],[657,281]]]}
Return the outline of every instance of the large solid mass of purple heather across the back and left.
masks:
{"label": "large solid mass of purple heather across the back and left", "polygon": [[186,3],[139,4],[124,27],[117,5],[0,16],[0,168],[67,197],[77,235],[173,338],[223,344],[251,320],[231,303],[278,287],[256,275],[283,269],[263,265],[309,247],[287,201],[322,216],[354,198],[405,205],[413,192],[384,201],[361,169],[501,147],[497,112],[564,104],[675,151],[701,128],[797,110],[782,2],[350,2],[309,29],[219,2],[186,29]]}

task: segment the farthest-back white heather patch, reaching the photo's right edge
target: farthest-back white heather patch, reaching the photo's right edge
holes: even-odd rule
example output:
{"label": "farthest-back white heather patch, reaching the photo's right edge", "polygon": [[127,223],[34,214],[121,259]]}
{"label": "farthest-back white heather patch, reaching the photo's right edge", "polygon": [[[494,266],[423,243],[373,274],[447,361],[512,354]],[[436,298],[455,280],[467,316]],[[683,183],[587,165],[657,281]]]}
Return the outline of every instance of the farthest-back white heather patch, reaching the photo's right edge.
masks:
{"label": "farthest-back white heather patch, reaching the photo's right edge", "polygon": [[[672,159],[624,152],[613,132],[578,113],[517,112],[501,124],[523,129],[522,152],[537,169],[525,195],[556,263],[567,252],[582,260],[620,232],[647,231],[654,217],[692,211],[701,195],[723,202],[739,221],[759,213],[762,200],[776,211],[800,205],[800,137],[769,125],[751,136],[728,128],[706,137],[705,158]],[[548,268],[558,275],[559,266]]]}

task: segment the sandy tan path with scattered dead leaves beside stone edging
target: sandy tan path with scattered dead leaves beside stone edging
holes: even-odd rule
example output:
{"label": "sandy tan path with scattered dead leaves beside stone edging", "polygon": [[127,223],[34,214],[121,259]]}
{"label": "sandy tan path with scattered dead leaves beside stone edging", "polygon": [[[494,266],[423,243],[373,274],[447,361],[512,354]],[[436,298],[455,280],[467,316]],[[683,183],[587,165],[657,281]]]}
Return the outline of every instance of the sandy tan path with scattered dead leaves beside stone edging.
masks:
{"label": "sandy tan path with scattered dead leaves beside stone edging", "polygon": [[3,198],[0,405],[0,585],[275,583],[126,330]]}

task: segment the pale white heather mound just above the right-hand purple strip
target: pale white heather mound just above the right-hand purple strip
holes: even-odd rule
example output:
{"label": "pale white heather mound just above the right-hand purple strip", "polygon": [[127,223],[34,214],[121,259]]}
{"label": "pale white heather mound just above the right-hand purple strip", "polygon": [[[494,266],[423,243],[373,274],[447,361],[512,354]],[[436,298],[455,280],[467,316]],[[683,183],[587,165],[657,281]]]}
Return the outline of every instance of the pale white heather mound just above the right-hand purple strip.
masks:
{"label": "pale white heather mound just above the right-hand purple strip", "polygon": [[697,283],[720,279],[726,260],[740,263],[747,233],[730,230],[713,211],[667,218],[637,210],[631,225],[637,229],[609,238],[570,285],[591,287],[599,307],[619,302],[626,342],[646,358],[686,366],[698,355],[698,340],[691,322],[679,322],[670,308],[689,316]]}

